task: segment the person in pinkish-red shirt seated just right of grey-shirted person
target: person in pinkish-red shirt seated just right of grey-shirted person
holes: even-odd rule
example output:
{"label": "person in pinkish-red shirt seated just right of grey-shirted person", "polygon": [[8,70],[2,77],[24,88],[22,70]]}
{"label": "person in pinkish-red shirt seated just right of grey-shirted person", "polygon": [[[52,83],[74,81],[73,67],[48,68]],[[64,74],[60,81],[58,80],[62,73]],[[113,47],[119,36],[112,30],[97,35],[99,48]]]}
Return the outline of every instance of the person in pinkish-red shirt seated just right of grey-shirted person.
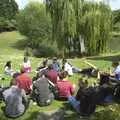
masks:
{"label": "person in pinkish-red shirt seated just right of grey-shirted person", "polygon": [[57,81],[56,89],[58,90],[58,100],[67,100],[69,96],[75,92],[75,85],[72,85],[69,80],[66,79],[68,73],[66,71],[61,72],[59,75],[59,81]]}

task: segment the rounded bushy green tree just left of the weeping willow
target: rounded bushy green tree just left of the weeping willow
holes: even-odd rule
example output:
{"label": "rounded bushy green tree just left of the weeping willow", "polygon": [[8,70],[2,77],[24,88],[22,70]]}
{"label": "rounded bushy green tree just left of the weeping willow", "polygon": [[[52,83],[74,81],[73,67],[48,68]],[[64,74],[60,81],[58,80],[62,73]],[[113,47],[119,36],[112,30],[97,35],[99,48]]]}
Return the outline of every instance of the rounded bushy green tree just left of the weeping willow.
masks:
{"label": "rounded bushy green tree just left of the weeping willow", "polygon": [[51,39],[51,19],[43,4],[30,3],[17,16],[18,30],[28,37],[32,48],[39,48],[44,40]]}

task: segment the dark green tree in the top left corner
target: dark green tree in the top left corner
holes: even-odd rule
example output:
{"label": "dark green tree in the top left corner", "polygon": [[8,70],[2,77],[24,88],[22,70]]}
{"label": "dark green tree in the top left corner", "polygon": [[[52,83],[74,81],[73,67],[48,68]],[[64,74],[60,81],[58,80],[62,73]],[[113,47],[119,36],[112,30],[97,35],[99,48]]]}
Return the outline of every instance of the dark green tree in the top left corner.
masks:
{"label": "dark green tree in the top left corner", "polygon": [[18,5],[15,0],[0,0],[0,32],[16,29],[17,13]]}

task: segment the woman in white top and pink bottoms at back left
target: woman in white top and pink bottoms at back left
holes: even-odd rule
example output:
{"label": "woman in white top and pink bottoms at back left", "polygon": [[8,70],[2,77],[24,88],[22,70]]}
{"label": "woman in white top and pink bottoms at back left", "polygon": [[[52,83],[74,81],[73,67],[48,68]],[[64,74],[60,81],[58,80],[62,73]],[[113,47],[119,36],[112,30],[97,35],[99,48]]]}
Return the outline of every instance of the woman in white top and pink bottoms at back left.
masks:
{"label": "woman in white top and pink bottoms at back left", "polygon": [[24,57],[23,67],[25,72],[31,72],[31,63],[27,56]]}

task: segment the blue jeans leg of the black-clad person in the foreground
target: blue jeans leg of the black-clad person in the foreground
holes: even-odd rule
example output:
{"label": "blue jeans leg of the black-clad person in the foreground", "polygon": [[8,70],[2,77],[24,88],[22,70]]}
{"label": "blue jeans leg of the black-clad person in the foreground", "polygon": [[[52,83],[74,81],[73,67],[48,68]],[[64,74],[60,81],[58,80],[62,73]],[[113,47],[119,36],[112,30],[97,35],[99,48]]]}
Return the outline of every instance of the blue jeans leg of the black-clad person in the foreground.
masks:
{"label": "blue jeans leg of the black-clad person in the foreground", "polygon": [[72,105],[77,113],[80,113],[80,101],[77,101],[74,96],[69,96],[68,102]]}

